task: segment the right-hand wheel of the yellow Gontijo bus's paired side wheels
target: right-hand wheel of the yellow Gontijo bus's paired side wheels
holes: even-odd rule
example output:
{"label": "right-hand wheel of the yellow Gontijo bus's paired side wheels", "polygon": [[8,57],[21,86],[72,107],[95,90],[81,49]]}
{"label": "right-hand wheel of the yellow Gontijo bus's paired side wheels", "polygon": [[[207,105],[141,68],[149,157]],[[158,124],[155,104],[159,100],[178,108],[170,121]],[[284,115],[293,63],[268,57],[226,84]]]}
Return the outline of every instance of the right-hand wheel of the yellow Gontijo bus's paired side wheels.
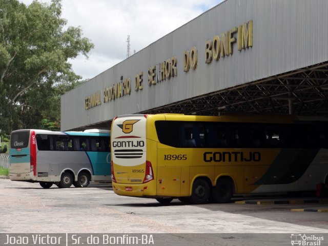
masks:
{"label": "right-hand wheel of the yellow Gontijo bus's paired side wheels", "polygon": [[234,192],[234,186],[231,180],[221,178],[217,181],[216,187],[212,188],[212,199],[216,203],[230,202]]}

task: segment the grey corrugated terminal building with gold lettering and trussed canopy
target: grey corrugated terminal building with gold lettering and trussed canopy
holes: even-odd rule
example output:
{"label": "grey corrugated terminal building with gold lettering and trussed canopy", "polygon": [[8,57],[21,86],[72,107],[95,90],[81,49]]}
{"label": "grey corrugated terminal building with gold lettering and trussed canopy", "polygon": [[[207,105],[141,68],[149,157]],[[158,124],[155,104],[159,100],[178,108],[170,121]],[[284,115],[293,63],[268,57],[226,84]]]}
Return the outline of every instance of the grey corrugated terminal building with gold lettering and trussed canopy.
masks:
{"label": "grey corrugated terminal building with gold lettering and trussed canopy", "polygon": [[61,96],[61,131],[117,115],[328,115],[328,1],[226,0]]}

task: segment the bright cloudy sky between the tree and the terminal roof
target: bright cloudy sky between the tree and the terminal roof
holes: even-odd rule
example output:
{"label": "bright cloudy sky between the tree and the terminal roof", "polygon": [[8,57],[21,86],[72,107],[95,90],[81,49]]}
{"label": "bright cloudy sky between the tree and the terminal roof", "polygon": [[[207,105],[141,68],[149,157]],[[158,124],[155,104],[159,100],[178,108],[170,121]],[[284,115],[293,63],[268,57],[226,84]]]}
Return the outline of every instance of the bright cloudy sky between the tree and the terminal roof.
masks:
{"label": "bright cloudy sky between the tree and the terminal roof", "polygon": [[[33,0],[19,0],[29,5]],[[38,0],[50,3],[50,0]],[[70,62],[83,79],[91,79],[174,31],[222,0],[62,0],[61,17],[80,27],[95,48],[89,58]]]}

